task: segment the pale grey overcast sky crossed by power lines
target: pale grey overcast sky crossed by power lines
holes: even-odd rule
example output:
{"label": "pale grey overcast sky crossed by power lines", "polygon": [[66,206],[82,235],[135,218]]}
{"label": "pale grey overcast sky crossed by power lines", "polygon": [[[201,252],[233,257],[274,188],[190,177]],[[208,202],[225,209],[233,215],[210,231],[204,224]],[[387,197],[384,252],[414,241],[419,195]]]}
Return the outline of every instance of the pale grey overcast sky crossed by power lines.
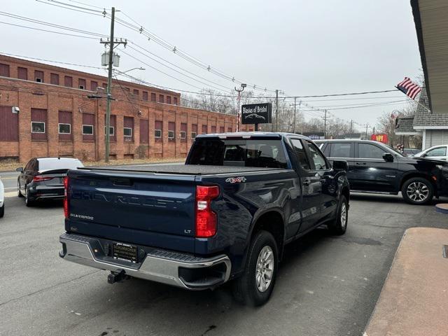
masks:
{"label": "pale grey overcast sky crossed by power lines", "polygon": [[[83,6],[74,1],[58,1]],[[118,18],[128,22],[132,22],[132,18],[148,31],[212,68],[260,87],[278,88],[288,95],[393,90],[393,86],[404,76],[416,78],[421,71],[409,0],[79,1],[106,8],[115,6],[117,10],[121,10],[121,13],[117,13]],[[2,0],[1,11],[109,34],[110,21],[106,18],[42,2]],[[51,29],[5,16],[1,16],[0,21]],[[0,24],[0,29],[3,33],[0,52],[91,66],[101,65],[100,55],[104,46],[97,40],[3,24]],[[126,27],[116,25],[116,36],[129,38],[203,78],[225,87],[235,86]],[[127,48],[126,52],[187,83],[205,86],[134,50]],[[144,66],[146,71],[132,71],[132,74],[158,85],[197,91],[197,88],[151,69],[123,52],[120,55],[121,71]],[[101,69],[68,67],[105,74]],[[377,98],[367,99],[372,97]],[[399,102],[388,106],[341,109],[349,107],[348,105],[353,107],[357,104],[406,99],[400,92],[334,97],[346,98],[357,99],[328,102],[316,102],[322,100],[318,98],[304,100],[316,109],[320,106],[334,106],[328,107],[331,116],[353,119],[359,125],[374,125],[377,117],[384,111],[390,112],[407,104]],[[305,116],[311,118],[321,114],[306,112]],[[360,126],[358,128],[361,129]]]}

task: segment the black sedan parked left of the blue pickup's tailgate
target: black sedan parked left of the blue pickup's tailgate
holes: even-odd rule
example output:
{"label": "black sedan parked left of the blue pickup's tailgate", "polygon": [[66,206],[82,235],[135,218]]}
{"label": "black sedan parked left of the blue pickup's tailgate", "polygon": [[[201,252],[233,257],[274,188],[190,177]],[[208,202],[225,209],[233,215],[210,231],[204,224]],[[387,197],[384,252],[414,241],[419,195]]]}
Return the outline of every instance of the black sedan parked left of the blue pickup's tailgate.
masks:
{"label": "black sedan parked left of the blue pickup's tailgate", "polygon": [[84,167],[78,159],[72,158],[32,158],[17,180],[18,197],[25,197],[30,207],[40,200],[62,200],[64,198],[64,176],[69,169]]}

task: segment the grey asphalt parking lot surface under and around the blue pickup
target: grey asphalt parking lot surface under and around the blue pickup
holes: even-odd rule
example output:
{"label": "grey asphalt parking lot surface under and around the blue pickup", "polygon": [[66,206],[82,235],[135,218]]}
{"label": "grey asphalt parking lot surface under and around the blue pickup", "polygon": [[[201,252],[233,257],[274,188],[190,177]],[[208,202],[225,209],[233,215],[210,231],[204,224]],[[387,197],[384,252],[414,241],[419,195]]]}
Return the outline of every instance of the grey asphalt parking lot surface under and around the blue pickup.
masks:
{"label": "grey asphalt parking lot surface under and around the blue pickup", "polygon": [[59,258],[59,202],[27,208],[10,194],[0,219],[0,335],[8,336],[361,335],[403,232],[448,226],[433,206],[353,195],[346,235],[319,229],[288,246],[271,300],[253,309],[233,302],[229,286],[110,285],[107,272]]}

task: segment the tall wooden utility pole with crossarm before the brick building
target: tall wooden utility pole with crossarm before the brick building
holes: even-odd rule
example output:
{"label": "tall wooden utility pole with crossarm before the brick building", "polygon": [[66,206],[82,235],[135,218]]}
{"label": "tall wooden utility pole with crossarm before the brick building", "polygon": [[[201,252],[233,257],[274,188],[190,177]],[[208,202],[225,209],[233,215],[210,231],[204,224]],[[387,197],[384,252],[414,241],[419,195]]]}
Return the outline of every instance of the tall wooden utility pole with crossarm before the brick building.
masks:
{"label": "tall wooden utility pole with crossarm before the brick building", "polygon": [[109,44],[109,64],[107,69],[107,91],[106,91],[106,154],[104,160],[109,162],[109,153],[111,145],[111,102],[112,102],[112,66],[113,66],[113,48],[115,44],[126,45],[127,41],[114,41],[113,39],[113,27],[115,23],[115,7],[112,7],[111,11],[111,37],[109,41],[100,41],[100,43]]}

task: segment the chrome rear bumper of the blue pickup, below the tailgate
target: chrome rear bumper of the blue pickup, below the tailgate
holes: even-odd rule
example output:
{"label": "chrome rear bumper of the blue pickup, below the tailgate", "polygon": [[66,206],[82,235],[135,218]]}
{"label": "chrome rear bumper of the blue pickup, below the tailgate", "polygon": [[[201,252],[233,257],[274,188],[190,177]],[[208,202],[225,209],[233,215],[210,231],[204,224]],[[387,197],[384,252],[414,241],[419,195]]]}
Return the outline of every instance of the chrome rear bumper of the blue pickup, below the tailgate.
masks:
{"label": "chrome rear bumper of the blue pickup, below the tailgate", "polygon": [[[62,243],[59,256],[65,260],[111,272],[124,271],[129,276],[176,287],[200,290],[217,286],[230,278],[232,266],[227,255],[198,258],[186,253],[154,248],[141,262],[134,263],[106,255],[98,239],[64,233],[59,237],[59,241]],[[208,270],[211,270],[214,276],[207,274]],[[206,274],[204,279],[200,279],[200,276],[193,276],[193,279],[191,276],[182,275],[189,274],[188,272],[194,274],[196,271]]]}

